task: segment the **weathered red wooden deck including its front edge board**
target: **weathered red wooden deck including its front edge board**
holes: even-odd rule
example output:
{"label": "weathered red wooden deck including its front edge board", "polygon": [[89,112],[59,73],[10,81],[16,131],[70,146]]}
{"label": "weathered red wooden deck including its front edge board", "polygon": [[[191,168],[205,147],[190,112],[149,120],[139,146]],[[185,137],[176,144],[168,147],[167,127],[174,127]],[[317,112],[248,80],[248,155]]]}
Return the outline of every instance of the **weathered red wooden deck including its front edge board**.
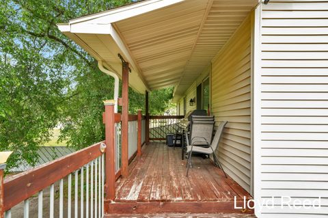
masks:
{"label": "weathered red wooden deck including its front edge board", "polygon": [[129,171],[116,182],[115,202],[106,205],[112,213],[253,213],[234,209],[234,196],[238,205],[251,196],[210,159],[193,156],[186,177],[180,148],[160,142],[144,146]]}

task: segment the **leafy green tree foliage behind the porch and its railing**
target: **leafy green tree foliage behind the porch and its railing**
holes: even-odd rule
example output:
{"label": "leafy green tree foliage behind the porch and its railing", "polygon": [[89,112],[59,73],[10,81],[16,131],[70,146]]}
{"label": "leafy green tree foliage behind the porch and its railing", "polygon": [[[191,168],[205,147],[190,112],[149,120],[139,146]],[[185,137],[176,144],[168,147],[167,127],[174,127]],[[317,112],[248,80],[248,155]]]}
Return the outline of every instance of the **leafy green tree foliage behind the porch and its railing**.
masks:
{"label": "leafy green tree foliage behind the porch and its railing", "polygon": [[[61,124],[61,140],[82,148],[104,138],[102,100],[112,98],[113,79],[66,38],[56,23],[109,10],[130,0],[3,0],[0,7],[0,150],[14,150],[8,167],[33,165],[39,145]],[[144,96],[129,91],[130,111]],[[150,95],[151,113],[163,113],[172,89]]]}

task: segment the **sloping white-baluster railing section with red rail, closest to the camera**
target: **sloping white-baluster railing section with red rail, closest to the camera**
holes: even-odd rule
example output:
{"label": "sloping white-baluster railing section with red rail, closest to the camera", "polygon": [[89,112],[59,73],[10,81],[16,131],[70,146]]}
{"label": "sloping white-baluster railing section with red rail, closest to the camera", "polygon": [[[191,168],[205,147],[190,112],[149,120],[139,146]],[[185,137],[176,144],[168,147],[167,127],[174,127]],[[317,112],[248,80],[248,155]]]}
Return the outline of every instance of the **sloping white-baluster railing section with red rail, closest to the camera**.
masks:
{"label": "sloping white-baluster railing section with red rail, closest to the camera", "polygon": [[5,218],[102,217],[105,154],[99,152],[100,146],[95,144],[6,178]]}

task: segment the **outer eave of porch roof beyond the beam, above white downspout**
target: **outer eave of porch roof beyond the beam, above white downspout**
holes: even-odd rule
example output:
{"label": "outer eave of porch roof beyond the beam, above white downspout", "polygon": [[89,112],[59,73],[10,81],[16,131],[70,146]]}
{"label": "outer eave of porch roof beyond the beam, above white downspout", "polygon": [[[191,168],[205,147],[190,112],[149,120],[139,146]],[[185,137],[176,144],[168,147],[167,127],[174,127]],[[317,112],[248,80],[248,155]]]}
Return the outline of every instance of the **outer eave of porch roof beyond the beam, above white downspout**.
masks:
{"label": "outer eave of porch roof beyond the beam, above white downspout", "polygon": [[150,90],[145,81],[143,81],[143,77],[133,57],[110,23],[59,24],[58,28],[96,60],[101,60],[108,70],[115,72],[120,78],[122,78],[122,61],[118,54],[122,55],[131,68],[129,85],[140,93]]}

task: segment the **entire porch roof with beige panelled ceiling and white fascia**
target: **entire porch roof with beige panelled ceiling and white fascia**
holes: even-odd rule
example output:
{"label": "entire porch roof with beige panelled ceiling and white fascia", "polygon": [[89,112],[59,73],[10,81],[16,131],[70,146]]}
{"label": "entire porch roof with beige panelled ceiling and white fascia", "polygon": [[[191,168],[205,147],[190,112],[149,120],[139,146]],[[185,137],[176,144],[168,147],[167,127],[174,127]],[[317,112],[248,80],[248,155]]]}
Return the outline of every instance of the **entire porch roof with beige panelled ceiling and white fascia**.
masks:
{"label": "entire porch roof with beige panelled ceiling and white fascia", "polygon": [[138,92],[175,86],[182,95],[258,0],[148,0],[59,24],[119,77],[120,53]]}

